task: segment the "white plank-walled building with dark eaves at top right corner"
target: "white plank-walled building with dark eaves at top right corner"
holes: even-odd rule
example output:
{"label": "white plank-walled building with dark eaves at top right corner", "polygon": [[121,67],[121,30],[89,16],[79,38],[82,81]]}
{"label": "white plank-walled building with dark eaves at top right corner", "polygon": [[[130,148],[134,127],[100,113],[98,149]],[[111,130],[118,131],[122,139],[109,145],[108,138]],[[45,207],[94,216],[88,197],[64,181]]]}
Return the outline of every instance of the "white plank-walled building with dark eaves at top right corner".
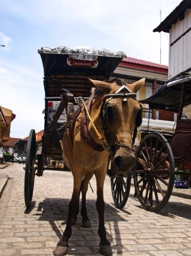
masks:
{"label": "white plank-walled building with dark eaves at top right corner", "polygon": [[[183,0],[153,32],[169,33],[169,72],[171,79],[182,72],[191,73],[191,1]],[[191,118],[190,105],[183,113]]]}

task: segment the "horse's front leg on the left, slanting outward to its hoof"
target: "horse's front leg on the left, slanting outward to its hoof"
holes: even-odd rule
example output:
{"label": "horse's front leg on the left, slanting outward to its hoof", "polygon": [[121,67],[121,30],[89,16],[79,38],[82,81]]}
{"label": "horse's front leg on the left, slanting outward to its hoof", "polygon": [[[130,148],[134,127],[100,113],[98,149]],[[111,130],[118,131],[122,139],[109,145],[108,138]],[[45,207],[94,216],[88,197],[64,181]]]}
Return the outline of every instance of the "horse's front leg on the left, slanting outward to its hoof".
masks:
{"label": "horse's front leg on the left, slanting outward to its hoof", "polygon": [[81,181],[82,178],[79,177],[79,175],[77,177],[74,177],[73,194],[71,196],[71,201],[69,202],[68,206],[67,225],[65,226],[62,239],[57,243],[56,249],[55,251],[53,251],[53,255],[55,256],[62,256],[67,254],[68,239],[71,236],[71,225],[73,224],[74,214],[77,212],[77,209],[79,208],[79,193]]}

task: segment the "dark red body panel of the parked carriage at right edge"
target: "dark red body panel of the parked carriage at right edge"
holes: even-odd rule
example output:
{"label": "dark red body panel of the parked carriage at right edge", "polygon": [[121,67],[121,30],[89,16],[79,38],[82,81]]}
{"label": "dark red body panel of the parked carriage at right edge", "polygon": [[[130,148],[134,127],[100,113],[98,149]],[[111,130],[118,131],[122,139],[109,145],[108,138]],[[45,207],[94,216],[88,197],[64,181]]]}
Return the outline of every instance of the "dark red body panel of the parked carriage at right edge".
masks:
{"label": "dark red body panel of the parked carriage at right edge", "polygon": [[175,164],[191,163],[191,119],[177,122],[170,146]]}

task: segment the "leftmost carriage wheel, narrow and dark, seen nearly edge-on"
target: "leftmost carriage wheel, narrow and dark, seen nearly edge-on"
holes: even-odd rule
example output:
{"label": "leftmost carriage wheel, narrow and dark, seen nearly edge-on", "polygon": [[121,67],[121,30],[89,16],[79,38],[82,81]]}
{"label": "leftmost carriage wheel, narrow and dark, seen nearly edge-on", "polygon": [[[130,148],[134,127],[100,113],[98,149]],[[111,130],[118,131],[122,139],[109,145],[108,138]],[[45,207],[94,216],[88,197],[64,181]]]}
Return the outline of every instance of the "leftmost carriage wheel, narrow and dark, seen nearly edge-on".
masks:
{"label": "leftmost carriage wheel, narrow and dark, seen nearly edge-on", "polygon": [[34,176],[35,176],[35,148],[36,148],[35,130],[32,129],[28,137],[26,166],[25,166],[25,205],[27,208],[31,206],[32,197],[33,197]]}

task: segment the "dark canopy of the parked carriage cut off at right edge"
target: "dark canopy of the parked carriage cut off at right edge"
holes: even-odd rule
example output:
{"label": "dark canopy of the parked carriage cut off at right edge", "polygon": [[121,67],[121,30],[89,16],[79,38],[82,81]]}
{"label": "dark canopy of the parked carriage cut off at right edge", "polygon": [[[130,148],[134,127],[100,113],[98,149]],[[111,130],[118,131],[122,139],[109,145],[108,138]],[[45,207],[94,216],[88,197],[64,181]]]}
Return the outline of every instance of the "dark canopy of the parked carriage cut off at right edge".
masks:
{"label": "dark canopy of the parked carriage cut off at right edge", "polygon": [[183,75],[166,82],[152,96],[147,99],[140,100],[146,103],[151,109],[179,109],[182,86],[185,86],[183,106],[191,104],[191,75]]}

